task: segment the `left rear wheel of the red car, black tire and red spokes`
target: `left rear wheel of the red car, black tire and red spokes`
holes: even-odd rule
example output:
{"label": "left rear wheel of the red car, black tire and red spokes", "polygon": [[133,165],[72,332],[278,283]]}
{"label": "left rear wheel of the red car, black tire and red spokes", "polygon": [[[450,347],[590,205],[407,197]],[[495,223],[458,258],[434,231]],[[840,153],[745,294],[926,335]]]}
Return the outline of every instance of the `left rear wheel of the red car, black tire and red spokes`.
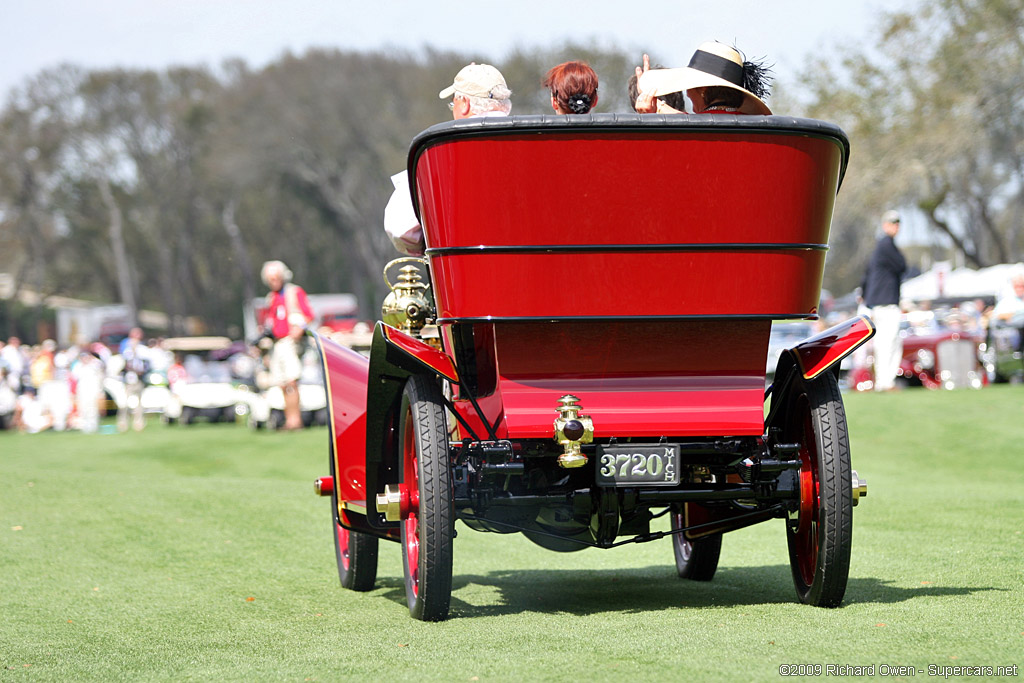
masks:
{"label": "left rear wheel of the red car, black tire and red spokes", "polygon": [[440,388],[429,378],[410,377],[398,416],[401,481],[409,488],[409,514],[401,522],[406,598],[415,618],[438,622],[447,617],[452,600],[455,536]]}

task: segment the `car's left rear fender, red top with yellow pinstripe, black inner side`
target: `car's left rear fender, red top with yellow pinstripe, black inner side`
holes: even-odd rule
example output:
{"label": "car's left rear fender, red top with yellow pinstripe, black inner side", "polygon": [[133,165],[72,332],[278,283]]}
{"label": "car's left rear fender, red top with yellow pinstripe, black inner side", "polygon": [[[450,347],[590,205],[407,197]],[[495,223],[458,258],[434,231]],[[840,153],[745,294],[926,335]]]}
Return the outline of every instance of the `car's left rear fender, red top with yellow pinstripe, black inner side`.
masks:
{"label": "car's left rear fender, red top with yellow pinstripe, black inner side", "polygon": [[[411,375],[439,376],[459,382],[452,358],[389,325],[378,322],[370,345],[367,387],[366,485],[368,497],[398,482],[397,420],[401,392]],[[368,505],[367,518],[378,529],[396,528]]]}

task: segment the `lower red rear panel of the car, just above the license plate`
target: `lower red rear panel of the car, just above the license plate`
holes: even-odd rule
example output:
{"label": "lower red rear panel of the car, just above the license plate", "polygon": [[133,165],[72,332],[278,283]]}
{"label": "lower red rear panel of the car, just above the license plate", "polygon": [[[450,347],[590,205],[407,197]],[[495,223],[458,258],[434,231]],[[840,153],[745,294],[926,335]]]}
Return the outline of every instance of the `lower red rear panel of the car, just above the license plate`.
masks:
{"label": "lower red rear panel of the car, just above the license plate", "polygon": [[[558,398],[580,397],[594,435],[764,431],[767,321],[496,324],[499,384],[479,403],[500,438],[548,438]],[[485,433],[468,401],[456,402]]]}

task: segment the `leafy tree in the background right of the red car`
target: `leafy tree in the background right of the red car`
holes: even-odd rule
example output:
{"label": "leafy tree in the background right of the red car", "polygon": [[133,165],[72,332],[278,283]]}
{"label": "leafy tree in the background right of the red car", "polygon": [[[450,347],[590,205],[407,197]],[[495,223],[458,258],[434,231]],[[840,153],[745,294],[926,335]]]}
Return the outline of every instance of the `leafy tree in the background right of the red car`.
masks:
{"label": "leafy tree in the background right of the red car", "polygon": [[808,113],[840,122],[853,146],[830,274],[852,286],[862,259],[846,250],[863,240],[850,232],[894,205],[919,209],[975,266],[1020,259],[1024,0],[923,2],[882,26],[874,54],[805,74]]}

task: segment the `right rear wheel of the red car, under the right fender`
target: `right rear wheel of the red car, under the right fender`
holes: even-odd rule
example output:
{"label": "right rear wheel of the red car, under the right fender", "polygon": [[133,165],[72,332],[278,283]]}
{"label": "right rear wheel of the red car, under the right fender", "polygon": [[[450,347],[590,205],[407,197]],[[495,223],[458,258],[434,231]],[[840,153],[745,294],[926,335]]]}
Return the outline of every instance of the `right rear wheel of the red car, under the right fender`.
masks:
{"label": "right rear wheel of the red car, under the right fender", "polygon": [[800,443],[800,503],[786,524],[790,567],[802,602],[838,607],[846,593],[853,490],[846,411],[835,375],[798,377],[785,442]]}

